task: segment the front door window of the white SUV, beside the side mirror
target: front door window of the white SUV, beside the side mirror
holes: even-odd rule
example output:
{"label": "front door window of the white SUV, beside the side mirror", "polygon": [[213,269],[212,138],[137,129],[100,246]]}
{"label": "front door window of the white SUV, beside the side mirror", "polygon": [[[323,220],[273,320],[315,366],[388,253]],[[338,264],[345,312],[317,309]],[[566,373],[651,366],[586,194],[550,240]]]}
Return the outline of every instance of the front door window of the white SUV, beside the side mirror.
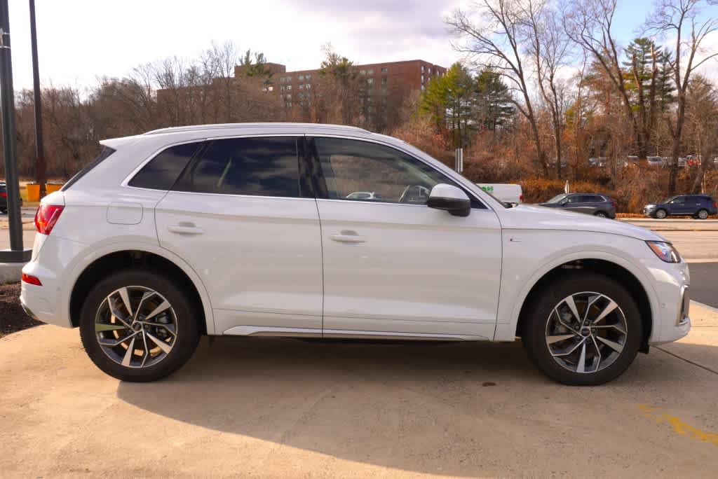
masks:
{"label": "front door window of the white SUV, beside the side mirror", "polygon": [[426,204],[446,177],[394,148],[343,138],[316,138],[330,199]]}

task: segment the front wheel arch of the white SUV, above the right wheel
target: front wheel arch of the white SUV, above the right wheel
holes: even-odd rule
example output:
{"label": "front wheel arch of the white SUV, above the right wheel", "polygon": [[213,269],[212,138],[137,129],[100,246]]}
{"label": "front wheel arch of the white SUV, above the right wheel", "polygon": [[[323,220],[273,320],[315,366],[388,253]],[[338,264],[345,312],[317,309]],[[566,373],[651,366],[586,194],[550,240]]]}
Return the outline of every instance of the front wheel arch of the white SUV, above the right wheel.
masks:
{"label": "front wheel arch of the white SUV, above the right wheel", "polygon": [[516,314],[516,328],[514,329],[516,336],[521,336],[521,328],[523,321],[528,316],[529,307],[536,295],[541,294],[545,288],[549,287],[551,280],[565,273],[567,270],[587,270],[597,272],[616,280],[623,288],[635,298],[640,311],[640,319],[643,324],[643,338],[641,338],[640,351],[648,352],[648,340],[653,333],[653,304],[651,300],[652,291],[645,287],[645,283],[640,280],[640,274],[628,265],[620,264],[623,261],[617,259],[607,259],[605,257],[585,257],[560,262],[558,265],[552,265],[543,274],[538,275],[538,279],[531,283],[531,288],[523,295],[521,307]]}

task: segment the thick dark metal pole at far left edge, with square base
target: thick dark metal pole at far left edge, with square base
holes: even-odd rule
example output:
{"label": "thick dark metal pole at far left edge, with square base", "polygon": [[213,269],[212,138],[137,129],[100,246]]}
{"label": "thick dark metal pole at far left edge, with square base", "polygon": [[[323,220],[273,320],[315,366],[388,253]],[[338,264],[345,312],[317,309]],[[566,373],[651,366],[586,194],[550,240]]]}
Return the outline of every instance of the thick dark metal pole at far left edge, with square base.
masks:
{"label": "thick dark metal pole at far left edge, with square base", "polygon": [[17,181],[17,149],[15,148],[15,99],[12,86],[12,56],[10,54],[10,19],[8,0],[0,0],[0,107],[2,109],[2,138],[5,156],[7,215],[10,229],[10,250],[20,252],[7,255],[22,261],[22,222],[20,221],[20,188]]}

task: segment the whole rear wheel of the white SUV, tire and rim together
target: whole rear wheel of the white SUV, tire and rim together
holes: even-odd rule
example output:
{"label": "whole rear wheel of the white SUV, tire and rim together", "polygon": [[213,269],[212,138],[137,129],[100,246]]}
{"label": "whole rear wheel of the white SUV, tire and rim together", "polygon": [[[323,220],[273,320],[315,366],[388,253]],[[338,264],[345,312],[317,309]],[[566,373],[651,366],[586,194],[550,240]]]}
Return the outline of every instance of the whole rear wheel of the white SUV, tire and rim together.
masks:
{"label": "whole rear wheel of the white SUV, tire and rim together", "polygon": [[154,381],[185,364],[200,338],[187,294],[148,270],[123,270],[90,291],[80,337],[90,359],[123,381]]}

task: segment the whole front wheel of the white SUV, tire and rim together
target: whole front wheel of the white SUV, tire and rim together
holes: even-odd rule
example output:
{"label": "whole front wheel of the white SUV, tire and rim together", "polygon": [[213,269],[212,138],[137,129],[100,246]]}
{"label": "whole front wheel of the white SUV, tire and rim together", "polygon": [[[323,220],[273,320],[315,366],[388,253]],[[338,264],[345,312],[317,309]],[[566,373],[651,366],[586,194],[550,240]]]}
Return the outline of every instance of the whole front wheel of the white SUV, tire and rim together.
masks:
{"label": "whole front wheel of the white SUV, tire and rim together", "polygon": [[623,374],[643,328],[638,306],[614,280],[565,275],[529,305],[522,340],[538,369],[563,384],[592,386]]}

